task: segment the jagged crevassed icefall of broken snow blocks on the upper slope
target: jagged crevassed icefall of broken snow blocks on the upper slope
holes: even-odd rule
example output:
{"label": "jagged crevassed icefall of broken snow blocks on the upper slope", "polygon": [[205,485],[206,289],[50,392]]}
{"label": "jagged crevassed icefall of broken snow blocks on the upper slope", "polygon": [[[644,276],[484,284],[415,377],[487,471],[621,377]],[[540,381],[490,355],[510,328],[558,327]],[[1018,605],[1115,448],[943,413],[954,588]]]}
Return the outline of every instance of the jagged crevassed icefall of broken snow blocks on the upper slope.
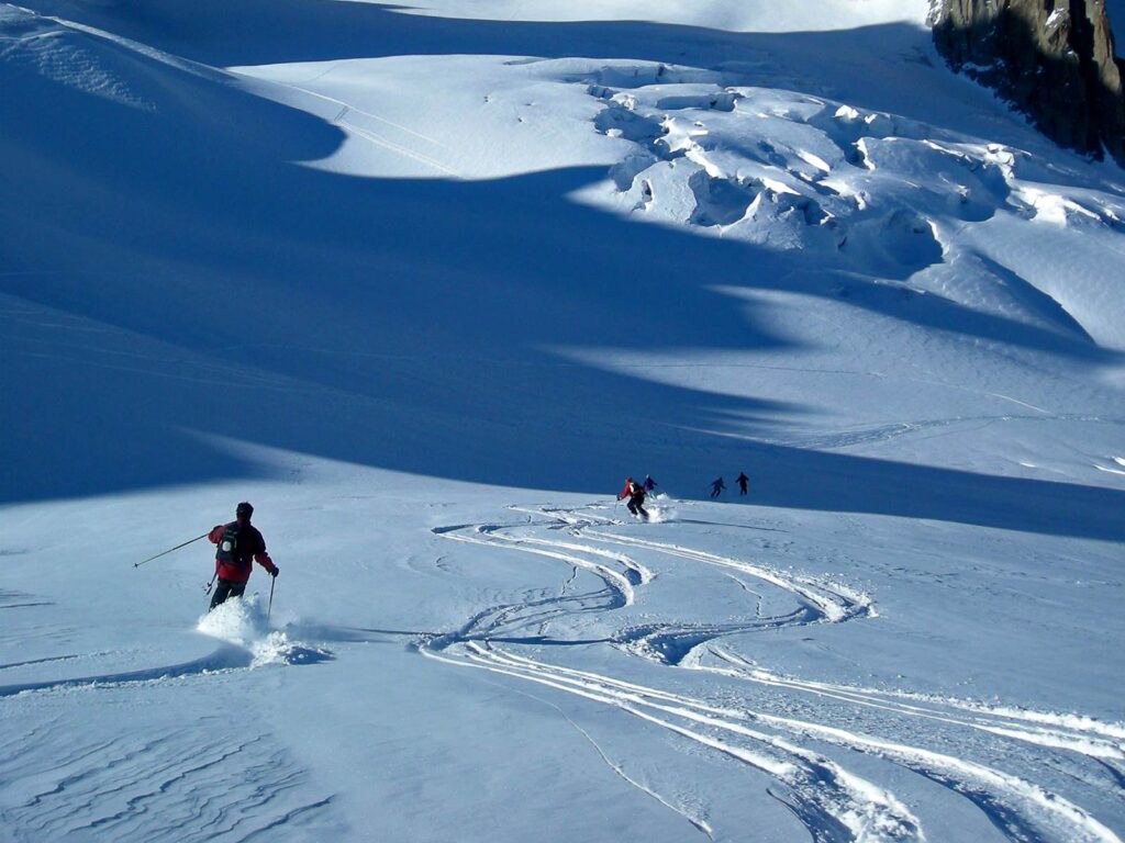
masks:
{"label": "jagged crevassed icefall of broken snow blocks on the upper slope", "polygon": [[1125,347],[1125,200],[1097,170],[737,73],[567,70],[601,109],[593,128],[623,142],[579,201],[788,253],[791,273],[803,256],[817,274],[936,294],[1068,347]]}

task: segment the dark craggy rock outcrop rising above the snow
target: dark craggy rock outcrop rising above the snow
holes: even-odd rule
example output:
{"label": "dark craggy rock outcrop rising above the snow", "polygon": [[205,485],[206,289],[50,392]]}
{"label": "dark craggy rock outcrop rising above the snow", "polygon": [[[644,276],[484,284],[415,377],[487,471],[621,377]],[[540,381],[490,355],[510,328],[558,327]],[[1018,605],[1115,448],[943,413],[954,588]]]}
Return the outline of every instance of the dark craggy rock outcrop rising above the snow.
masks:
{"label": "dark craggy rock outcrop rising above the snow", "polygon": [[1105,0],[934,0],[950,64],[998,90],[1063,146],[1125,163],[1125,63]]}

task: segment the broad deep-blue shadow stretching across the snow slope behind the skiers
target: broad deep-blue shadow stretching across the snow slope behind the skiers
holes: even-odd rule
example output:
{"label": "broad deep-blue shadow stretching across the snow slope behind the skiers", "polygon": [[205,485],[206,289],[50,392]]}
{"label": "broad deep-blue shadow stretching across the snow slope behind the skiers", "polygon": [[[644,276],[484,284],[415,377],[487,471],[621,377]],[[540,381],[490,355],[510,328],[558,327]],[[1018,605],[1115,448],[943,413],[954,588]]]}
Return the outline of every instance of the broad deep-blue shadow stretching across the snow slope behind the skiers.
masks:
{"label": "broad deep-blue shadow stretching across the snow slope behind the skiers", "polygon": [[[487,21],[330,6],[375,16],[364,26],[422,37],[421,21],[466,46],[477,38],[479,52],[514,49]],[[570,26],[513,31],[537,34],[537,45],[560,33],[559,55],[580,46],[568,33],[601,33],[583,48],[603,55],[623,52],[619,39],[637,35],[629,27],[666,46],[684,29]],[[720,47],[730,38],[710,37]],[[806,48],[829,35],[809,37]],[[615,52],[602,49],[610,42]],[[798,347],[753,305],[710,289],[719,283],[837,297],[1089,361],[1101,356],[1092,345],[567,198],[603,169],[461,182],[300,166],[291,162],[330,155],[342,133],[213,80],[122,61],[173,96],[146,111],[0,67],[0,291],[11,297],[0,315],[10,399],[0,406],[0,502],[256,471],[201,433],[583,492],[614,489],[623,466],[659,465],[676,487],[698,478],[702,496],[716,466],[753,464],[755,502],[1125,537],[1109,517],[1120,492],[735,439],[727,434],[776,432],[818,409],[656,383],[552,351],[602,350],[608,361],[638,344],[669,355]]]}

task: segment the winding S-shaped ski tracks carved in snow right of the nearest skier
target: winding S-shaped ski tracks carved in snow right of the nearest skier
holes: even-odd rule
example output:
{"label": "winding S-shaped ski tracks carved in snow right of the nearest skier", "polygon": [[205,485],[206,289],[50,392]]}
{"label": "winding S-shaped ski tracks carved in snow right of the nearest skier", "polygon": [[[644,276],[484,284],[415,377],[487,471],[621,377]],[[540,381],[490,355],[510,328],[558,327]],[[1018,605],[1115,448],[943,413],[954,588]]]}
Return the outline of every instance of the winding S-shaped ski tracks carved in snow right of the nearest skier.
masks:
{"label": "winding S-shaped ski tracks carved in snow right of the nearest skier", "polygon": [[[876,616],[872,599],[846,586],[793,573],[748,560],[668,544],[623,532],[622,522],[588,507],[524,508],[513,511],[532,520],[511,525],[458,525],[433,532],[444,538],[555,559],[597,577],[602,588],[578,593],[564,588],[556,597],[504,604],[477,613],[459,631],[428,636],[418,652],[426,658],[518,678],[613,706],[654,726],[722,753],[765,773],[775,785],[768,794],[785,805],[806,826],[812,840],[924,841],[918,817],[893,792],[849,771],[809,744],[819,743],[875,756],[936,782],[970,800],[993,827],[1012,843],[1119,843],[1120,839],[1078,805],[1041,785],[969,756],[952,754],[950,736],[986,733],[990,738],[1015,741],[1041,753],[1064,753],[1084,761],[1097,772],[1088,783],[1119,794],[1125,781],[1125,725],[1107,724],[1079,715],[1058,715],[1015,707],[986,706],[966,700],[929,697],[906,691],[834,685],[782,677],[720,645],[729,635],[780,626],[839,624]],[[559,537],[565,533],[567,537]],[[547,534],[547,535],[543,535]],[[619,549],[619,550],[613,550]],[[628,551],[626,553],[623,551]],[[638,590],[657,573],[629,554],[675,558],[724,569],[740,590],[755,601],[755,617],[745,623],[652,624],[631,627],[596,640],[554,640],[543,634],[549,622],[574,615],[612,613],[637,602]],[[763,616],[763,598],[740,579],[754,578],[795,602],[791,611]],[[573,578],[572,578],[573,579]],[[568,581],[573,586],[573,582]],[[528,627],[538,627],[529,634]],[[843,703],[885,714],[893,738],[855,731],[831,722],[778,716],[753,710],[729,700],[713,703],[678,692],[646,687],[596,672],[551,664],[513,652],[510,646],[610,644],[634,656],[737,682],[768,687],[807,699]],[[552,705],[552,704],[551,704]],[[565,715],[564,715],[565,716]],[[567,717],[570,720],[569,717]],[[942,749],[914,745],[899,735],[910,724],[910,740],[930,738]],[[572,720],[573,723],[573,720]],[[593,738],[574,724],[592,743]],[[927,728],[934,729],[926,732]],[[638,785],[594,743],[601,758],[626,781],[712,835],[712,823],[678,806],[649,787]]]}

